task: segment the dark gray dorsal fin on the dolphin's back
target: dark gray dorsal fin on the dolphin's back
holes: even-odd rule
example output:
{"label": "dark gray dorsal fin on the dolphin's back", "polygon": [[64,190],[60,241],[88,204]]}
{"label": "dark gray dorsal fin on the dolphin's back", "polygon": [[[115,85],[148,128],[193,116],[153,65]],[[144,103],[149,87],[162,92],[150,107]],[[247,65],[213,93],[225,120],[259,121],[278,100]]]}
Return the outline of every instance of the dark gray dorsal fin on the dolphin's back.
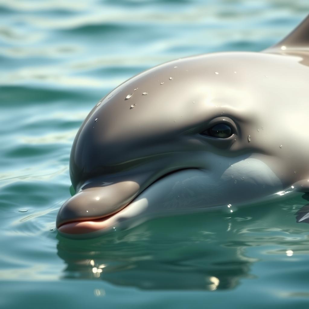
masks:
{"label": "dark gray dorsal fin on the dolphin's back", "polygon": [[283,40],[265,49],[263,52],[275,53],[276,51],[286,51],[289,49],[309,51],[309,15]]}

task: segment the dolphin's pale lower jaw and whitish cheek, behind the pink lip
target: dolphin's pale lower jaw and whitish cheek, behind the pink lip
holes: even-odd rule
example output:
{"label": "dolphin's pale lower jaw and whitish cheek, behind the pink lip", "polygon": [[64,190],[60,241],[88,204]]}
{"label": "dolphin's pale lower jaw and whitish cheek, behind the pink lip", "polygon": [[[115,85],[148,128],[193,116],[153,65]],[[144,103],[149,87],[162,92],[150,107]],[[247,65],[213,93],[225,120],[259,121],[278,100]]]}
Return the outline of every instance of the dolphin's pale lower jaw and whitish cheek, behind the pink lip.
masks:
{"label": "dolphin's pale lower jaw and whitish cheek, behind the pink lip", "polygon": [[273,171],[254,158],[233,163],[221,175],[218,170],[182,170],[152,184],[123,210],[107,219],[105,226],[108,230],[132,227],[157,216],[250,204],[282,189]]}

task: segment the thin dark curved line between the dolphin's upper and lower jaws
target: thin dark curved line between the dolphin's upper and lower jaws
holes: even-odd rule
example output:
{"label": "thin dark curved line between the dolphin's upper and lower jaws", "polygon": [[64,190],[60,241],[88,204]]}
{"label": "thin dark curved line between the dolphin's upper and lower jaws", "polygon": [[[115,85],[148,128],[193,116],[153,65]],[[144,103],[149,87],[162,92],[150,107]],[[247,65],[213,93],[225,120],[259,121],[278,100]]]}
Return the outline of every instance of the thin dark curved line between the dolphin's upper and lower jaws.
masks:
{"label": "thin dark curved line between the dolphin's upper and lower jaws", "polygon": [[179,171],[184,171],[184,170],[188,170],[188,169],[199,169],[197,167],[185,167],[185,168],[180,168],[180,169],[177,169],[177,170],[174,170],[174,171],[170,171],[162,176],[160,176],[159,178],[157,178],[155,181],[153,181],[151,184],[149,184],[147,187],[145,187],[141,192],[139,192],[135,197],[133,197],[133,199],[127,204],[125,205],[124,207],[122,207],[121,209],[117,210],[116,212],[112,213],[112,214],[108,214],[106,216],[102,216],[102,217],[99,217],[99,218],[93,218],[93,219],[83,219],[83,220],[72,220],[72,221],[69,221],[69,222],[64,222],[62,224],[60,224],[59,226],[57,226],[57,230],[65,227],[65,226],[70,226],[70,225],[77,225],[78,223],[80,224],[83,224],[83,223],[86,223],[86,222],[89,222],[89,223],[102,223],[110,218],[112,218],[113,216],[115,216],[116,214],[120,213],[122,210],[124,210],[126,207],[128,207],[133,201],[136,200],[136,198],[138,198],[138,196],[143,193],[147,188],[151,187],[153,184],[155,184],[156,182],[160,181],[161,179],[171,175],[171,174],[174,174],[174,173],[177,173]]}

